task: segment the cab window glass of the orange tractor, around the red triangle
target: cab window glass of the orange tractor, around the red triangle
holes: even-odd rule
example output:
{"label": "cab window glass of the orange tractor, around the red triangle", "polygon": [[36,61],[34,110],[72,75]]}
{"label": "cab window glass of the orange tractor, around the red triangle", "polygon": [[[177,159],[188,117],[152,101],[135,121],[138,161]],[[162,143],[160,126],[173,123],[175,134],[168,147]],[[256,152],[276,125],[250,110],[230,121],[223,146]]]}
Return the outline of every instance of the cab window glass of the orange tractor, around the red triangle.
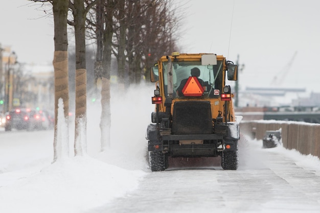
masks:
{"label": "cab window glass of the orange tractor, around the red triangle", "polygon": [[[215,89],[219,89],[221,93],[223,68],[222,62],[223,61],[217,61],[217,65],[201,65],[201,62],[172,62],[173,97],[181,97],[179,90],[185,85],[186,79],[191,76],[191,69],[195,70],[194,68],[198,68],[196,73],[199,73],[199,75],[197,78],[204,88],[204,97],[212,98],[214,96]],[[167,72],[168,62],[163,62],[163,77],[165,81],[164,84],[166,97],[168,96]]]}

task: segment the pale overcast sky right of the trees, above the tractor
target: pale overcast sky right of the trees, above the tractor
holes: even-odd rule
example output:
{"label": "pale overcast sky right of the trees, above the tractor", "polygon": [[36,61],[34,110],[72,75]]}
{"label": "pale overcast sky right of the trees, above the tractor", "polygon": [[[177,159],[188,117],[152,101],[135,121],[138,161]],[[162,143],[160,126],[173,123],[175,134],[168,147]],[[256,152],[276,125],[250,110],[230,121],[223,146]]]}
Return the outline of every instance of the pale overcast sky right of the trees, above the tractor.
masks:
{"label": "pale overcast sky right of the trees, above the tractor", "polygon": [[[185,1],[182,1],[185,2]],[[320,1],[192,0],[186,4],[188,52],[213,52],[244,68],[239,85],[320,92]],[[273,81],[277,79],[277,81]]]}

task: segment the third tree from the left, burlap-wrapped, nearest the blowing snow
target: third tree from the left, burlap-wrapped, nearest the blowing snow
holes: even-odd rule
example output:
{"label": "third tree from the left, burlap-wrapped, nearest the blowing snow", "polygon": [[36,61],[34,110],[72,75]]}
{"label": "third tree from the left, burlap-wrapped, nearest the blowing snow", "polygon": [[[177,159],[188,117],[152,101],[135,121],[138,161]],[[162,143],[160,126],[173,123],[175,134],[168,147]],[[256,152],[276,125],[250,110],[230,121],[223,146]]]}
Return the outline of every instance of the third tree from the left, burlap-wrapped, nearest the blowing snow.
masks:
{"label": "third tree from the left, burlap-wrapped, nearest the blowing snow", "polygon": [[91,37],[97,39],[95,79],[97,84],[101,82],[101,151],[110,147],[110,74],[114,34],[113,17],[116,9],[117,1],[115,0],[98,0],[95,10],[87,19],[91,32],[94,32]]}

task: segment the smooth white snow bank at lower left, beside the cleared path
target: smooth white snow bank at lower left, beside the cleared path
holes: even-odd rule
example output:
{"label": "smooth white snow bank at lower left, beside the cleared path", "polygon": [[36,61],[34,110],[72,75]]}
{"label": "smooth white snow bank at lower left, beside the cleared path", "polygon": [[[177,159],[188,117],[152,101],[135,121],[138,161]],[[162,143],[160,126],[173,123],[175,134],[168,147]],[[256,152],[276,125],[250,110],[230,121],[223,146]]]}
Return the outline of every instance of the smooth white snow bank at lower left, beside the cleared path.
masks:
{"label": "smooth white snow bank at lower left, beside the cleared path", "polygon": [[81,212],[134,190],[143,175],[91,157],[64,159],[2,187],[0,212]]}

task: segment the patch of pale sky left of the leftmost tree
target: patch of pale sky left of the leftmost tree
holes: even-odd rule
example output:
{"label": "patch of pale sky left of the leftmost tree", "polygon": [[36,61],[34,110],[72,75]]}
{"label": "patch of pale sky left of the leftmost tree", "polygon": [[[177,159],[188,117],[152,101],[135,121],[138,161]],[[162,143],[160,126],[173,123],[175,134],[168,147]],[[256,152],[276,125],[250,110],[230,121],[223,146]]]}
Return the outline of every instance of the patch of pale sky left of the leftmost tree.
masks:
{"label": "patch of pale sky left of the leftmost tree", "polygon": [[[53,18],[27,0],[4,1],[0,13],[0,43],[10,46],[22,63],[52,63]],[[5,3],[4,3],[5,2]]]}

